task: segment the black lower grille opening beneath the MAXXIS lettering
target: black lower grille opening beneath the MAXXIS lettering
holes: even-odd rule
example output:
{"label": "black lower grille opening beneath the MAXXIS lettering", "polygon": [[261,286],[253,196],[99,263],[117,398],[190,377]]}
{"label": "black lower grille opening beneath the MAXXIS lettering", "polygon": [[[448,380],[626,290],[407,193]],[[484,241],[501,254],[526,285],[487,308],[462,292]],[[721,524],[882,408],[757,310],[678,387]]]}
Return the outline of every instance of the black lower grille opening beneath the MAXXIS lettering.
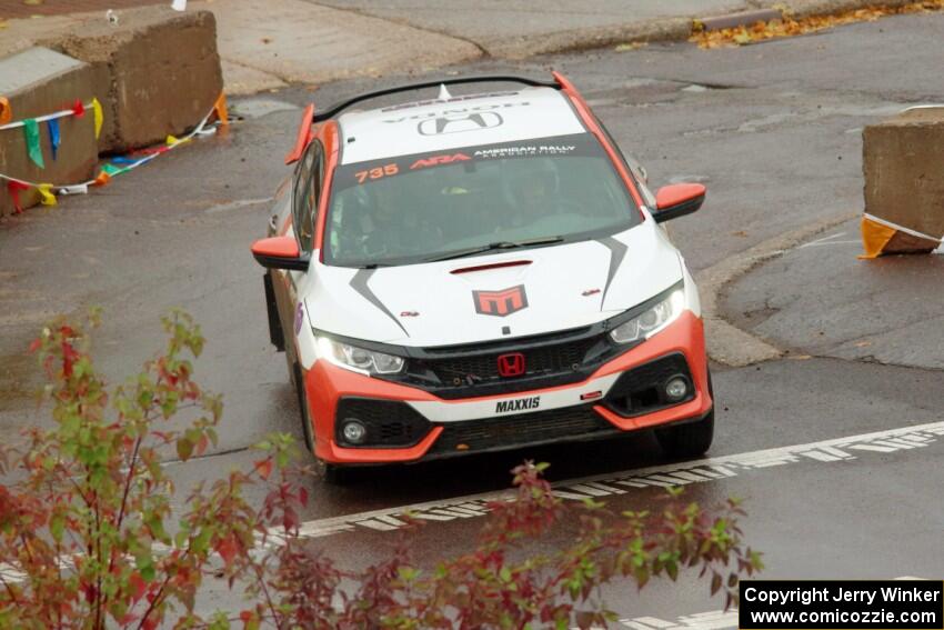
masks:
{"label": "black lower grille opening beneath the MAXXIS lettering", "polygon": [[429,456],[514,448],[563,438],[603,437],[617,430],[590,406],[565,407],[442,424]]}

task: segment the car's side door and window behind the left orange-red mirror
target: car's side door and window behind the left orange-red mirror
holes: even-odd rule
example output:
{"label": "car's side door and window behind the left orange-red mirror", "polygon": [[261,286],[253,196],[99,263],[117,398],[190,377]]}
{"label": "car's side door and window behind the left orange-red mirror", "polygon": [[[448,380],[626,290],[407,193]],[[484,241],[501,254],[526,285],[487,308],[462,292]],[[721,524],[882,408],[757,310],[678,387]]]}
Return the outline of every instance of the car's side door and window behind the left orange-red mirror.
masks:
{"label": "car's side door and window behind the left orange-red mirror", "polygon": [[[314,231],[318,226],[318,201],[324,177],[324,149],[319,140],[313,140],[295,167],[292,184],[292,232],[299,242],[299,250],[311,253],[314,247]],[[299,296],[304,294],[308,281],[307,271],[277,271],[275,299],[279,301],[279,313],[282,330],[291,331],[288,339],[294,339],[298,333],[295,319],[298,317]],[[287,351],[294,354],[294,344],[288,343]]]}

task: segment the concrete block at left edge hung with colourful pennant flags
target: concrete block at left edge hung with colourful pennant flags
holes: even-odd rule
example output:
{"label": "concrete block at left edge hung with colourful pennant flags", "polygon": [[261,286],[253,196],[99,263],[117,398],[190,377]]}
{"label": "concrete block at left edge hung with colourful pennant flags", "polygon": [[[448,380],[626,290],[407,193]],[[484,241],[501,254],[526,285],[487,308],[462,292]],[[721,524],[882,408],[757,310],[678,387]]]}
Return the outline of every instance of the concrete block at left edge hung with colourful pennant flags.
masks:
{"label": "concrete block at left edge hung with colourful pennant flags", "polygon": [[[98,71],[82,61],[46,48],[30,48],[0,59],[0,94],[9,99],[13,120],[37,118],[70,109],[76,99],[88,103],[101,86]],[[99,96],[99,98],[101,98]],[[49,132],[40,123],[40,147],[46,168],[34,164],[28,153],[22,128],[0,131],[0,172],[37,183],[69,184],[94,177],[98,163],[92,113],[59,119],[61,144],[52,159]],[[21,191],[23,208],[39,201],[36,190]],[[0,181],[0,217],[13,212],[7,182]]]}

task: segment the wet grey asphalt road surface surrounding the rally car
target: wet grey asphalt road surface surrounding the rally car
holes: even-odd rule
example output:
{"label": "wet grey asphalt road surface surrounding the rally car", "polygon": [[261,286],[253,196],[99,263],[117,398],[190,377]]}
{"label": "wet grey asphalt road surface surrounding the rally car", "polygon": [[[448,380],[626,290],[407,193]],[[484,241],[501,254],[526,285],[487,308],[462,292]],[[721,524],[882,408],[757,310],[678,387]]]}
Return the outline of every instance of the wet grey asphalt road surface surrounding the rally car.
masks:
{"label": "wet grey asphalt road surface surrounding the rally car", "polygon": [[[697,271],[785,230],[861,210],[861,128],[908,103],[944,101],[944,87],[931,80],[940,74],[942,42],[944,14],[912,16],[733,50],[651,46],[454,70],[560,69],[624,150],[646,166],[654,187],[706,183],[703,210],[670,228]],[[248,244],[263,233],[265,200],[289,172],[282,158],[297,108],[399,80],[292,88],[237,101],[233,110],[245,118],[228,136],[197,141],[56,210],[33,209],[0,224],[0,431],[9,436],[46,421],[28,397],[39,382],[22,353],[30,336],[53,313],[96,303],[106,310],[97,356],[112,379],[159,347],[159,317],[170,307],[190,311],[208,337],[198,376],[224,394],[221,443],[219,454],[171,466],[181,486],[248,466],[245,448],[270,431],[300,438],[284,361],[268,342],[261,269]],[[836,232],[845,232],[838,241],[857,238],[854,224],[826,234]],[[689,496],[705,503],[732,494],[746,500],[746,534],[766,553],[765,577],[944,573],[941,311],[923,302],[924,310],[907,317],[925,324],[902,329],[896,310],[918,290],[936,287],[940,294],[940,257],[857,263],[856,253],[848,243],[789,252],[736,282],[725,299],[735,323],[791,353],[761,366],[714,368],[716,441]],[[894,272],[903,267],[910,274]],[[855,281],[845,282],[842,269]],[[915,277],[918,289],[910,290],[907,279]],[[856,301],[883,287],[901,299],[881,302],[881,314],[870,311],[877,302]],[[858,308],[836,310],[850,303]],[[820,334],[824,318],[830,342]],[[861,349],[854,343],[865,334],[876,337],[891,359],[835,350],[850,340]],[[903,437],[887,433],[918,424],[925,427]],[[842,438],[848,440],[828,442]],[[770,452],[775,448],[784,450]],[[383,553],[392,539],[383,524],[395,522],[396,508],[432,501],[423,508],[430,524],[418,549],[434,558],[459,550],[455,541],[469,540],[481,522],[474,501],[464,511],[440,508],[503,489],[506,471],[524,458],[550,461],[551,477],[573,497],[594,488],[616,509],[662,500],[657,483],[645,488],[653,486],[652,472],[643,476],[649,481],[633,481],[633,471],[665,464],[662,473],[671,478],[690,468],[666,463],[652,438],[640,434],[368,471],[347,488],[312,478],[313,504],[303,518],[325,534],[319,543],[358,566]],[[597,476],[602,484],[569,482]],[[372,510],[382,513],[364,514]],[[617,588],[612,596],[627,619],[687,626],[696,618],[681,616],[722,606],[707,597],[706,584],[691,580],[681,588],[656,583],[639,596]],[[697,619],[702,627],[734,624],[725,617]]]}

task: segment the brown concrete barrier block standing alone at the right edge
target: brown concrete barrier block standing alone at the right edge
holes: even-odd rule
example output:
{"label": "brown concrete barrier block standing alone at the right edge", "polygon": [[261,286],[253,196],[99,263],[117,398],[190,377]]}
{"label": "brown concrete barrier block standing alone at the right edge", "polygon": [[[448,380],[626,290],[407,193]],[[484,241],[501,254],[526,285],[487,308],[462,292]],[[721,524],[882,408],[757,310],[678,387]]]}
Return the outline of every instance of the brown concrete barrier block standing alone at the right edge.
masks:
{"label": "brown concrete barrier block standing alone at the right edge", "polygon": [[[944,108],[870,124],[862,150],[865,212],[934,239],[944,236]],[[903,249],[886,251],[931,251],[934,244],[925,241],[916,250],[903,242]]]}

